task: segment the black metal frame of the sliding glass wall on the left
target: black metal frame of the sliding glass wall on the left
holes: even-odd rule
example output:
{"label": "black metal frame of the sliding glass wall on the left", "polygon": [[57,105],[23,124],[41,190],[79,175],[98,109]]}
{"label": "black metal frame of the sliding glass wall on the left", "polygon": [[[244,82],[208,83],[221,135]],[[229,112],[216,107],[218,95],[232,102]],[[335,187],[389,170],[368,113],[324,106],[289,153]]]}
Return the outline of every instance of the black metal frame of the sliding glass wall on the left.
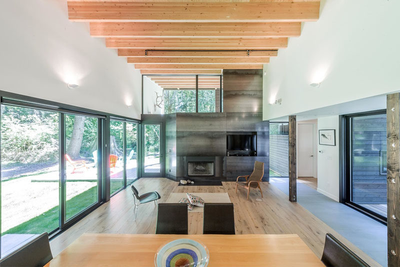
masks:
{"label": "black metal frame of the sliding glass wall on the left", "polygon": [[[45,111],[51,111],[51,112],[56,112],[58,113],[58,138],[59,138],[59,158],[58,158],[58,164],[60,166],[60,171],[59,171],[59,183],[61,189],[59,190],[59,217],[58,217],[58,227],[56,229],[51,230],[49,234],[49,239],[51,240],[61,232],[65,231],[72,225],[74,225],[76,222],[81,220],[83,217],[88,215],[90,212],[98,208],[100,205],[104,204],[105,202],[108,202],[110,200],[110,194],[109,194],[109,189],[110,189],[110,181],[109,181],[109,121],[110,119],[113,120],[121,120],[124,121],[124,125],[126,125],[125,122],[130,122],[130,123],[136,123],[137,124],[137,143],[139,144],[140,140],[140,135],[138,134],[140,131],[140,123],[141,120],[134,119],[134,118],[129,118],[129,117],[124,117],[124,116],[119,116],[115,115],[112,113],[107,113],[107,112],[101,112],[101,111],[96,111],[96,110],[91,110],[91,109],[86,109],[86,108],[81,108],[73,105],[68,105],[68,104],[63,104],[63,103],[58,103],[54,101],[49,101],[49,100],[44,100],[40,98],[35,98],[35,97],[30,97],[26,95],[21,95],[21,94],[16,94],[16,93],[11,93],[7,91],[2,91],[0,90],[0,105],[10,105],[10,106],[18,106],[18,107],[24,107],[24,108],[31,108],[31,109],[40,109],[40,110],[45,110]],[[65,114],[72,114],[72,115],[79,115],[79,116],[88,116],[88,117],[95,117],[98,119],[97,123],[97,140],[98,140],[98,157],[97,157],[97,164],[98,164],[98,171],[97,171],[97,189],[98,189],[98,195],[97,195],[97,202],[93,203],[92,205],[86,207],[79,213],[73,215],[72,217],[68,218],[66,220],[65,218],[65,203],[66,203],[66,198],[65,198],[65,159],[64,159],[64,154],[65,154]],[[1,118],[1,111],[0,111],[0,118]],[[125,129],[125,127],[124,127]],[[124,135],[125,136],[125,135]],[[124,150],[125,150],[125,144],[124,143]],[[1,148],[1,142],[0,142],[0,148]],[[140,155],[137,152],[137,155]],[[139,157],[139,156],[138,156]],[[125,160],[125,159],[124,159]],[[141,159],[137,159],[139,162]],[[1,164],[0,164],[1,168]],[[139,170],[137,168],[137,178],[126,184],[126,179],[124,180],[124,186],[114,192],[112,195],[115,195],[117,192],[123,190],[128,186],[129,184],[133,183],[137,179],[139,179]],[[124,164],[124,172],[125,172],[125,164]],[[1,179],[1,171],[0,171],[0,179]],[[0,182],[0,197],[1,197],[1,182]],[[64,201],[65,199],[65,201]],[[1,205],[0,205],[0,214],[1,214]],[[0,216],[1,218],[1,216]],[[0,227],[1,227],[1,219],[0,219]],[[1,238],[0,238],[0,247],[1,247]],[[0,255],[1,257],[1,255]]]}

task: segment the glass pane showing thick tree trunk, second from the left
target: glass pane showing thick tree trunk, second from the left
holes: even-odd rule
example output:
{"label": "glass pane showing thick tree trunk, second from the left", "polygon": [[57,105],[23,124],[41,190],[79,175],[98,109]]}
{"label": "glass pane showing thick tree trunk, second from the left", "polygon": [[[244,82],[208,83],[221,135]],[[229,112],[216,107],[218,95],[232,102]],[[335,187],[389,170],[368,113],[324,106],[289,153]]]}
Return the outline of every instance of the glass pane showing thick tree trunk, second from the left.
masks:
{"label": "glass pane showing thick tree trunk, second from the left", "polygon": [[65,218],[98,201],[98,119],[65,115]]}

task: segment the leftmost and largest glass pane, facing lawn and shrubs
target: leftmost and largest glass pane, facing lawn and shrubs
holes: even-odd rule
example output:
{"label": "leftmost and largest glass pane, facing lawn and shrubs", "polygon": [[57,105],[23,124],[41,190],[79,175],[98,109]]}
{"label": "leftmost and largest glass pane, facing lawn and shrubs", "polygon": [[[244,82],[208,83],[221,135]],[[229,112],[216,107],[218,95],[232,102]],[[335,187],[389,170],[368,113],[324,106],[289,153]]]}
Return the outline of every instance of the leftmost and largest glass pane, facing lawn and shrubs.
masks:
{"label": "leftmost and largest glass pane, facing lawn and shrubs", "polygon": [[59,225],[59,114],[1,105],[1,254]]}

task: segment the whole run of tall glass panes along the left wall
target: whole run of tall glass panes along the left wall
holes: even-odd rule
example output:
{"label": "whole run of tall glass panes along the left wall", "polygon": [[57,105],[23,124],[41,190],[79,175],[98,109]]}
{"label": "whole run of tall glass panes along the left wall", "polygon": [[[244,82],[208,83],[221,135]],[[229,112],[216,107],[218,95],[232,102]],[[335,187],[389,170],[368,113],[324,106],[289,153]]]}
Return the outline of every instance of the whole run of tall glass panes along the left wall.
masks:
{"label": "whole run of tall glass panes along the left wall", "polygon": [[[105,157],[110,156],[111,194],[133,182],[138,125],[112,117],[110,139],[104,140],[106,115],[69,110],[58,103],[19,101],[1,93],[3,257],[37,234],[53,236],[106,201],[107,187],[101,182]],[[106,147],[110,155],[104,154]],[[156,158],[159,148],[152,150]]]}

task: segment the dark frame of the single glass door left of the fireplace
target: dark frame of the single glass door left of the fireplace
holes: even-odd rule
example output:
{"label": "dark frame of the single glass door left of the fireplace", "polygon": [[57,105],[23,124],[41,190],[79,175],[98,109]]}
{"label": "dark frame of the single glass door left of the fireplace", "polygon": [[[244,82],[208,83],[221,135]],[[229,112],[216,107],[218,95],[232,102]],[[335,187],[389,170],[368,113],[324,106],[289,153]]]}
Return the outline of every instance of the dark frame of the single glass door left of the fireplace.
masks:
{"label": "dark frame of the single glass door left of the fireplace", "polygon": [[[159,125],[159,172],[144,172],[144,131],[146,125]],[[140,177],[164,177],[165,176],[165,155],[164,149],[164,123],[163,122],[141,122],[140,124]]]}

